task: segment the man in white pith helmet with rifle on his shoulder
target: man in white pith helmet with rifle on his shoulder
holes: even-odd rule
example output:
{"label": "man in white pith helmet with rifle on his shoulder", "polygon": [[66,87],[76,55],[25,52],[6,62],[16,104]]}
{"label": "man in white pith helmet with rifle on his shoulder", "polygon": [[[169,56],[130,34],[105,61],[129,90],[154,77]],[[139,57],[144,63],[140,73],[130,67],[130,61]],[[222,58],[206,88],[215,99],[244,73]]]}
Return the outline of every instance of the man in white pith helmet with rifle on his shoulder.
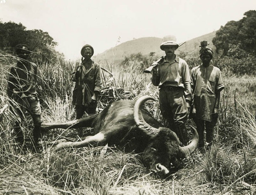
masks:
{"label": "man in white pith helmet with rifle on his shoulder", "polygon": [[190,70],[187,63],[175,55],[179,45],[174,35],[165,36],[160,45],[165,56],[157,61],[151,81],[159,87],[159,103],[162,116],[169,122],[180,141],[187,145],[188,110],[191,101]]}

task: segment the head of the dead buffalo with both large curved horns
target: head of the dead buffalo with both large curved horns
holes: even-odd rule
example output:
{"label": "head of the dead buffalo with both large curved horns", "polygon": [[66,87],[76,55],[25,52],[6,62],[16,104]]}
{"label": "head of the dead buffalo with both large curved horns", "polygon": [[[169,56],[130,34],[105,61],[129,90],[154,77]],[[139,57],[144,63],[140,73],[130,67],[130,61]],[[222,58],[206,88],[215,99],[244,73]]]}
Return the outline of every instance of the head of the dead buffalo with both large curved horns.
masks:
{"label": "head of the dead buffalo with both large curved horns", "polygon": [[142,160],[143,164],[151,171],[159,175],[166,175],[170,172],[171,163],[175,164],[177,159],[188,158],[196,150],[199,137],[197,131],[192,128],[194,137],[191,143],[185,147],[181,147],[175,132],[169,128],[155,128],[147,124],[143,119],[140,107],[149,99],[154,100],[151,96],[143,96],[134,105],[134,120],[136,125],[150,137],[149,144],[142,154]]}

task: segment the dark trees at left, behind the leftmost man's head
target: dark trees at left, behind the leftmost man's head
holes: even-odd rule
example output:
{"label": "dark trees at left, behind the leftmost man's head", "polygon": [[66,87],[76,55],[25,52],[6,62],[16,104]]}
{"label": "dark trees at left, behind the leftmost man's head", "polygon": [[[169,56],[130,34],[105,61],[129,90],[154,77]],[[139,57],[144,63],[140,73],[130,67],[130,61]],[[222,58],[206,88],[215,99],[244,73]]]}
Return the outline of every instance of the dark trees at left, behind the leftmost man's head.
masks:
{"label": "dark trees at left, behind the leftmost man's head", "polygon": [[27,30],[21,23],[0,21],[0,50],[14,54],[15,46],[26,44],[33,51],[32,58],[38,64],[55,63],[58,57],[64,57],[55,50],[57,42],[42,30]]}

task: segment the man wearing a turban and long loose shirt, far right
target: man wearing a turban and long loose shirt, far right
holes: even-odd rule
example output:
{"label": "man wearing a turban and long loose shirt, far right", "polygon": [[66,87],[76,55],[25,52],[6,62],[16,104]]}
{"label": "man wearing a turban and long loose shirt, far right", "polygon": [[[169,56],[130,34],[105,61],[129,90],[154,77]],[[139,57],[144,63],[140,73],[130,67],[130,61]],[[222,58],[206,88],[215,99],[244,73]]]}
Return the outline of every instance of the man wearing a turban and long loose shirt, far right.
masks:
{"label": "man wearing a turban and long loose shirt, far right", "polygon": [[201,41],[199,56],[202,65],[191,70],[191,88],[193,94],[192,118],[199,135],[198,148],[204,148],[204,126],[206,142],[210,146],[214,137],[214,126],[218,120],[220,92],[224,89],[220,69],[210,65],[213,50],[207,41]]}

